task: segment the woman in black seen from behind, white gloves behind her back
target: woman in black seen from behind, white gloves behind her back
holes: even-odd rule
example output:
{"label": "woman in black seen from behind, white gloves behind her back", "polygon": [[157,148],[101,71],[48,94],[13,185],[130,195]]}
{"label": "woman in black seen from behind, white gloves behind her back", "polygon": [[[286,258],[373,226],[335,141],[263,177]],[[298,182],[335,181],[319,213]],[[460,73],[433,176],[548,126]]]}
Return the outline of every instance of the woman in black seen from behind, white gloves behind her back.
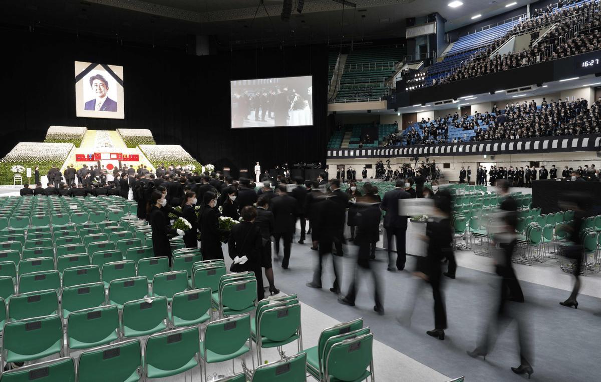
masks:
{"label": "woman in black seen from behind, white gloves behind her back", "polygon": [[257,278],[257,298],[263,300],[265,297],[263,274],[261,273],[263,237],[261,236],[261,229],[254,225],[257,210],[247,205],[241,212],[242,222],[232,227],[227,244],[230,258],[234,261],[231,265],[231,271],[254,272]]}

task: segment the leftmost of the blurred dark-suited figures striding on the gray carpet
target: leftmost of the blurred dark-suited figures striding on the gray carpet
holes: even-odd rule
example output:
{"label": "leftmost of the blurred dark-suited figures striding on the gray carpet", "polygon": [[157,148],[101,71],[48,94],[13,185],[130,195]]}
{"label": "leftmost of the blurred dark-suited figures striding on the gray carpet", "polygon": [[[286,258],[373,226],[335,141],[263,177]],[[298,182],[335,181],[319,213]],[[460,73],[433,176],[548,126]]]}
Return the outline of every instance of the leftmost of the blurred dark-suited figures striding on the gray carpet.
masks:
{"label": "leftmost of the blurred dark-suited figures striding on the gray carpet", "polygon": [[[319,261],[317,262],[317,267],[313,271],[313,280],[307,283],[307,287],[310,288],[322,288],[323,258],[329,253],[332,253],[334,238],[341,229],[344,229],[344,207],[340,202],[334,201],[334,198],[336,198],[336,196],[333,195],[328,197],[317,196],[313,206],[313,238],[319,240]],[[342,277],[335,256],[332,256],[332,263],[334,264],[334,283],[332,288],[330,288],[330,291],[335,294],[340,294],[340,281]]]}

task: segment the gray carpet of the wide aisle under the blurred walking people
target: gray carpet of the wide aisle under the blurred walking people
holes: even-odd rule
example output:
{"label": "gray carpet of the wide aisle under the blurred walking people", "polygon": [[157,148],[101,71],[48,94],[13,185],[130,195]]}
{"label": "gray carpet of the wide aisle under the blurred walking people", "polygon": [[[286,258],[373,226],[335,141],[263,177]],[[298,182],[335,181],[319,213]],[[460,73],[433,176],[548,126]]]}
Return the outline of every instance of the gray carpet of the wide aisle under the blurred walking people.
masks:
{"label": "gray carpet of the wide aisle under the blurred walking people", "polygon": [[[382,279],[385,291],[386,314],[373,312],[373,287],[370,277],[363,276],[359,286],[356,306],[340,305],[329,291],[333,271],[331,260],[325,262],[323,289],[305,286],[311,280],[317,252],[308,244],[293,244],[290,269],[282,270],[274,262],[276,286],[285,293],[297,293],[299,299],[313,308],[339,321],[363,317],[378,341],[445,375],[465,375],[467,381],[520,380],[510,366],[519,365],[517,330],[513,322],[498,336],[495,347],[486,361],[472,359],[465,351],[473,350],[483,334],[484,326],[494,309],[498,296],[498,279],[495,275],[459,267],[458,278],[445,278],[448,329],[445,341],[426,335],[434,327],[432,291],[429,285],[418,282],[409,272],[386,271],[386,252],[376,253],[373,262]],[[353,249],[349,250],[353,252]],[[353,259],[343,259],[343,295],[349,287]],[[412,270],[415,259],[407,259],[406,269]],[[461,264],[459,264],[461,265]],[[536,267],[530,268],[536,271]],[[560,270],[558,270],[559,272]],[[586,282],[586,277],[584,277]],[[510,303],[516,317],[526,320],[529,339],[533,342],[533,381],[599,380],[599,324],[594,315],[601,310],[601,300],[580,296],[578,310],[560,306],[569,293],[564,290],[521,282],[526,303]],[[416,299],[410,327],[401,326],[395,318],[405,314],[407,305],[421,286]],[[395,365],[390,365],[395,368]],[[402,370],[398,371],[402,376]],[[402,380],[402,378],[400,379]]]}

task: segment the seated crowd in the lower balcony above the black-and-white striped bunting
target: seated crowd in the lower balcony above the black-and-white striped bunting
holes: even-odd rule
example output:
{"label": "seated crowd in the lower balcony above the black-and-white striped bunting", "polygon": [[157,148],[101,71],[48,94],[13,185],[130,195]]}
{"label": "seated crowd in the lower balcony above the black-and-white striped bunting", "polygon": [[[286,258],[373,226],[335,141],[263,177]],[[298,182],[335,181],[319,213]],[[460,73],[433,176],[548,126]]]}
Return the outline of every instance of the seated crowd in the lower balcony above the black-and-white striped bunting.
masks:
{"label": "seated crowd in the lower balcony above the black-and-white striped bunting", "polygon": [[[468,118],[467,115],[459,118],[455,113],[453,116],[448,114],[434,121],[430,121],[430,118],[422,119],[419,123],[421,135],[415,127],[412,127],[403,136],[397,134],[394,141],[389,139],[389,142],[395,144],[404,142],[406,145],[447,143],[449,124],[463,130],[474,130],[475,135],[469,141],[599,134],[601,133],[600,118],[601,97],[591,108],[588,108],[585,99],[570,102],[566,97],[563,101],[547,102],[543,97],[540,109],[532,100],[521,104],[507,103],[502,111],[499,111],[495,105],[491,113],[475,112],[473,118]],[[453,142],[462,142],[462,139],[454,139]]]}

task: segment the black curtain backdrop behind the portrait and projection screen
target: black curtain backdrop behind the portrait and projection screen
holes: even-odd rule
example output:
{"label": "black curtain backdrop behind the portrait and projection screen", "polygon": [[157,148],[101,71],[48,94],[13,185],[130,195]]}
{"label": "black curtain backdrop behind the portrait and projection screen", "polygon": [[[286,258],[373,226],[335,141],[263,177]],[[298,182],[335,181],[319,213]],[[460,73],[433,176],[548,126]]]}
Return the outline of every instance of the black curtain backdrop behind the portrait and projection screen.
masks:
{"label": "black curtain backdrop behind the portrait and projection screen", "polygon": [[[41,142],[51,125],[150,129],[158,144],[180,144],[201,163],[252,170],[325,162],[326,46],[191,56],[64,34],[0,32],[0,156],[17,142]],[[123,65],[125,120],[75,117],[74,61]],[[230,79],[313,75],[310,127],[230,129]]]}

